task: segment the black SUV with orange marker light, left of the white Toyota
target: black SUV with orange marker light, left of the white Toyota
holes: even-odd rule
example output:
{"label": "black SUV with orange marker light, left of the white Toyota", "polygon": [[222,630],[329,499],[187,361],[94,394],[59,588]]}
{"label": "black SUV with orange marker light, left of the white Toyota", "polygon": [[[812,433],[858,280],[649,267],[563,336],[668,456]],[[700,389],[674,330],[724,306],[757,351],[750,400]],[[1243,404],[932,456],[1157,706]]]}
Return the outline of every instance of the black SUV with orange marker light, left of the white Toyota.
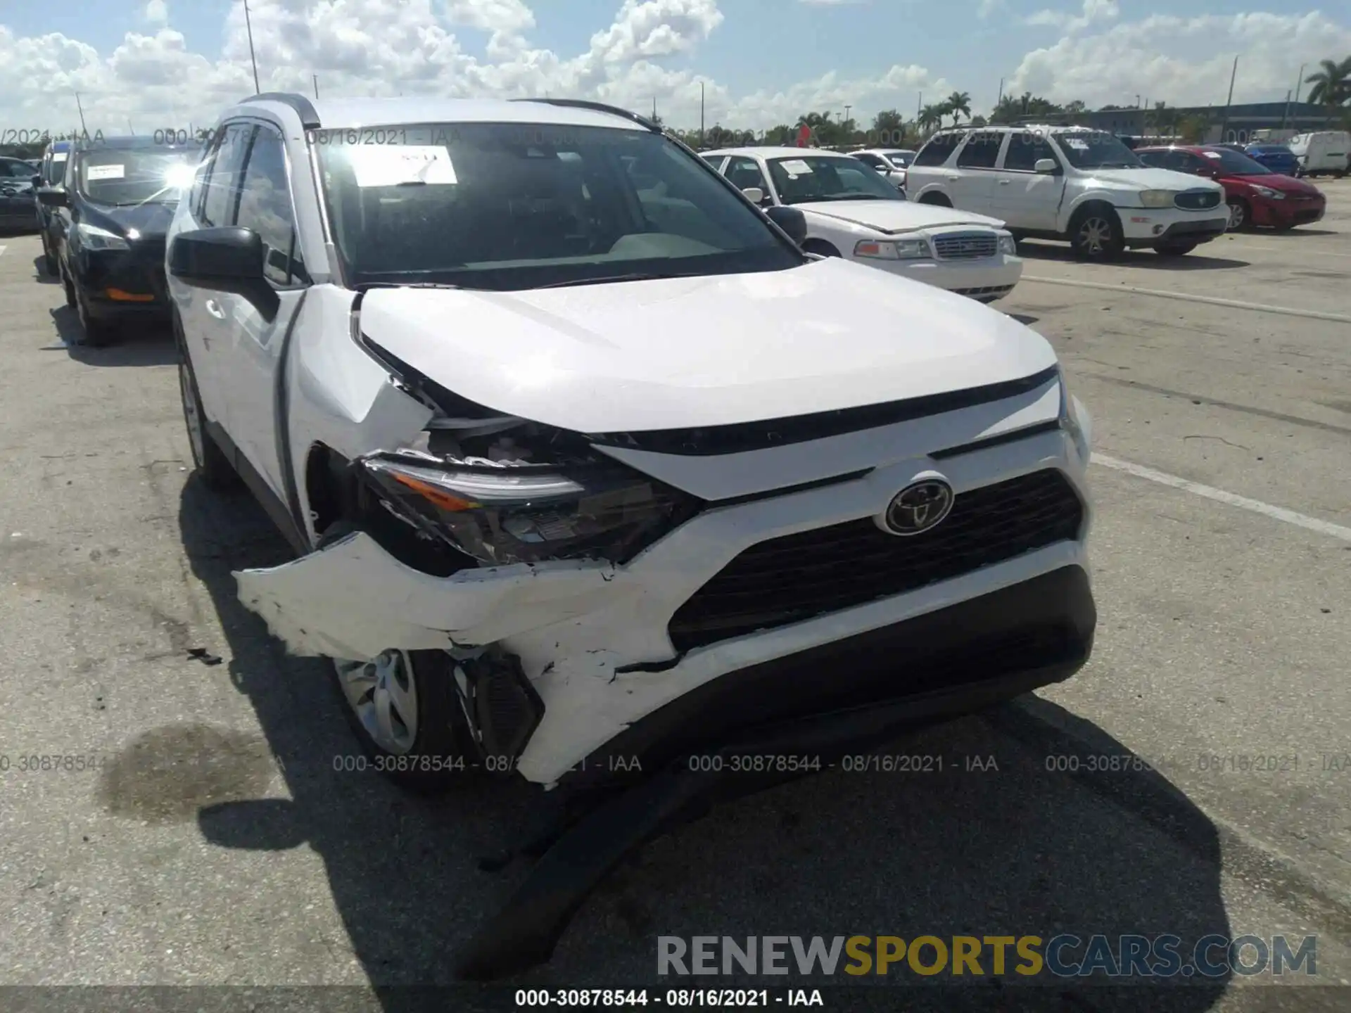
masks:
{"label": "black SUV with orange marker light, left of the white Toyota", "polygon": [[199,161],[200,145],[84,140],[66,159],[63,185],[38,192],[59,217],[57,273],[85,344],[107,344],[127,319],[169,319],[165,235]]}

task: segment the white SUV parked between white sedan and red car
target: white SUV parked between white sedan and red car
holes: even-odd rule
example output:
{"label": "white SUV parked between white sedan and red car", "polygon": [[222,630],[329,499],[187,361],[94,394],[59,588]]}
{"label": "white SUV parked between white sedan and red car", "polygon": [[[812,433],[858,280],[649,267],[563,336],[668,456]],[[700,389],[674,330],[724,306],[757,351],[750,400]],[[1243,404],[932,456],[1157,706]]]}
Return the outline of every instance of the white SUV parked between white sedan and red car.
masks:
{"label": "white SUV parked between white sedan and red car", "polygon": [[1096,130],[940,131],[907,176],[911,200],[993,215],[1019,238],[1067,239],[1085,259],[1127,247],[1178,257],[1228,228],[1220,184],[1151,169]]}

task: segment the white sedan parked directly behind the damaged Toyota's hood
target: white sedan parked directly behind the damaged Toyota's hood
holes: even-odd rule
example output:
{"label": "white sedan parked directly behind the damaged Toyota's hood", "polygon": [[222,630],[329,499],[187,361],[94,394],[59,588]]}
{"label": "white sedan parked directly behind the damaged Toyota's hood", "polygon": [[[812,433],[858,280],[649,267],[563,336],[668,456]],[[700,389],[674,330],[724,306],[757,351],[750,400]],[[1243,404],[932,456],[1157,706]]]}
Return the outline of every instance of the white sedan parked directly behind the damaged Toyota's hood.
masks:
{"label": "white sedan parked directly behind the damaged Toyota's hood", "polygon": [[1023,277],[1023,261],[1002,222],[911,204],[851,155],[742,147],[700,157],[757,204],[801,211],[808,253],[858,261],[981,303],[1002,298]]}

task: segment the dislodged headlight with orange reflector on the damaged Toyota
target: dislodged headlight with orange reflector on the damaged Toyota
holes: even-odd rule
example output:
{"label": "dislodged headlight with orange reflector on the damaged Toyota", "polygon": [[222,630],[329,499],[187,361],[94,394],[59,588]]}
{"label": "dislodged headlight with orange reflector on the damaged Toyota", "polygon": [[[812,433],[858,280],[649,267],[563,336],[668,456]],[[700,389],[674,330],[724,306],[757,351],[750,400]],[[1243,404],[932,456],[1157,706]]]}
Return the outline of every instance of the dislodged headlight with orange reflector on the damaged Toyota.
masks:
{"label": "dislodged headlight with orange reflector on the damaged Toyota", "polygon": [[408,448],[359,463],[386,511],[486,566],[624,563],[701,505],[608,461],[535,465]]}

